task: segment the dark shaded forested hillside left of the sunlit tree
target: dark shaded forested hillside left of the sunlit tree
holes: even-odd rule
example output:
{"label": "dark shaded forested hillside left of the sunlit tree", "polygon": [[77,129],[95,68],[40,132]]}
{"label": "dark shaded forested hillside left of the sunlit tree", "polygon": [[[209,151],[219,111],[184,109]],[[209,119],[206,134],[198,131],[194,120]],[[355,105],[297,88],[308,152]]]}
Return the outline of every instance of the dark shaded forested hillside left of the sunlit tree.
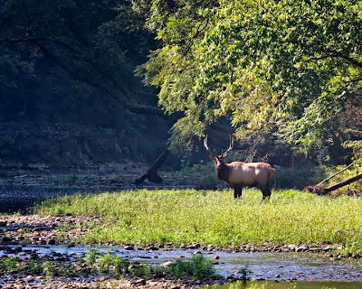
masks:
{"label": "dark shaded forested hillside left of the sunlit tree", "polygon": [[154,36],[118,5],[0,2],[3,172],[117,172],[166,148],[172,121],[143,109],[157,107],[156,90],[134,76]]}

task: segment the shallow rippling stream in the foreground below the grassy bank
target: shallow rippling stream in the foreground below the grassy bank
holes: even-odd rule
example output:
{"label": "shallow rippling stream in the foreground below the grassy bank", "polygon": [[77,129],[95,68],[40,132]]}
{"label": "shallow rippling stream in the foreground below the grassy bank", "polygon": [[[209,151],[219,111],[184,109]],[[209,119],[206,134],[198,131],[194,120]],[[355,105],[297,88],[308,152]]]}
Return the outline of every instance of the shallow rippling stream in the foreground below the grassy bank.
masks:
{"label": "shallow rippling stream in the foreground below the grassy bank", "polygon": [[[24,246],[25,252],[36,251],[39,256],[52,252],[76,258],[84,257],[90,247],[76,246]],[[92,247],[99,251],[110,251],[112,254],[140,261],[144,264],[159,266],[164,262],[178,258],[187,259],[195,252],[213,259],[214,268],[219,275],[233,275],[255,280],[268,280],[272,288],[291,288],[291,282],[297,282],[297,288],[321,288],[328,285],[331,288],[362,288],[362,260],[330,260],[316,254],[304,253],[231,253],[223,251],[196,251],[176,249],[168,250],[126,250],[123,247]],[[1,256],[1,254],[0,254]],[[216,256],[216,258],[214,258]],[[278,283],[277,283],[277,282]],[[227,287],[220,286],[219,289]],[[241,287],[242,288],[242,287]]]}

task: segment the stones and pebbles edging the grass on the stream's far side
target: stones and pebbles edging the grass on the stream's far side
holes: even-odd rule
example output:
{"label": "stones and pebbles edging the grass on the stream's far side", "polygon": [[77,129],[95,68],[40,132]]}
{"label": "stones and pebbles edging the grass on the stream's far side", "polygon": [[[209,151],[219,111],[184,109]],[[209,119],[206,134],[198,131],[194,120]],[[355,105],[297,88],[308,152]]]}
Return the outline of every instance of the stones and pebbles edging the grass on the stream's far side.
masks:
{"label": "stones and pebbles edging the grass on the stream's far side", "polygon": [[[12,215],[0,216],[0,245],[83,245],[85,236],[90,231],[91,223],[101,223],[100,216],[80,216],[66,214],[63,216],[40,216],[40,215]],[[105,246],[116,246],[119,244],[97,244]],[[239,247],[219,248],[212,245],[203,245],[196,242],[188,244],[150,244],[148,247],[137,247],[136,245],[123,244],[129,250],[134,249],[199,249],[199,250],[227,250],[233,252],[303,252],[323,253],[331,257],[338,256],[341,246],[330,244],[285,244],[273,245],[264,242],[260,246],[242,244]],[[344,256],[349,258],[362,257],[361,255]]]}

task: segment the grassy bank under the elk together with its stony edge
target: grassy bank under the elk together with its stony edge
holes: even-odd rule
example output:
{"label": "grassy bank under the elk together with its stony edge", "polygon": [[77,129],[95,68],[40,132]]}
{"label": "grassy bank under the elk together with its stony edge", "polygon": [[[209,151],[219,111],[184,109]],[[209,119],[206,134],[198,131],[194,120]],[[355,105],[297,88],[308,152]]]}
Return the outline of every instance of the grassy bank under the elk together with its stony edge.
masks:
{"label": "grassy bank under the elk together with its stony edge", "polygon": [[[27,193],[25,191],[24,193]],[[257,190],[82,192],[0,216],[3,236],[24,244],[215,248],[361,256],[361,198]]]}

